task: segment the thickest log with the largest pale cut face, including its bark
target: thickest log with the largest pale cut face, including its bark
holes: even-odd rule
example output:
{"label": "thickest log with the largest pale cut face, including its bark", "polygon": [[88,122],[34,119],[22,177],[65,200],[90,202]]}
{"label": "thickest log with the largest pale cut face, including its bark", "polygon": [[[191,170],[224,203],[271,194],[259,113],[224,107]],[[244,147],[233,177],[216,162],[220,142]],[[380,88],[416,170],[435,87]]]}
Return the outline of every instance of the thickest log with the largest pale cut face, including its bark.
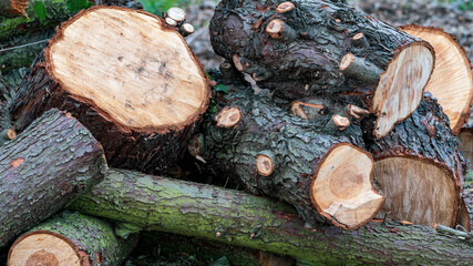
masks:
{"label": "thickest log with the largest pale cut face, including its bark", "polygon": [[11,113],[21,131],[51,108],[65,110],[101,142],[110,165],[161,173],[184,154],[209,95],[177,31],[144,11],[94,7],[58,30]]}

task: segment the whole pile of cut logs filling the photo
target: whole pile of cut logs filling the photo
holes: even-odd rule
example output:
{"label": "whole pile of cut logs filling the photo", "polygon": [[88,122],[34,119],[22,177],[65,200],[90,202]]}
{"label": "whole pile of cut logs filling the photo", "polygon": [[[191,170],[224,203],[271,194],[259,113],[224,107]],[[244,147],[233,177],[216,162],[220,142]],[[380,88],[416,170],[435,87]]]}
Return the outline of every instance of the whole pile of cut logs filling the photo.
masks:
{"label": "whole pile of cut logs filling the photo", "polygon": [[[228,250],[255,264],[255,249],[309,265],[473,262],[456,140],[473,76],[443,30],[345,1],[223,0],[210,82],[178,8],[69,19],[45,0],[39,23],[27,4],[0,6],[0,23],[21,25],[0,30],[18,52],[0,53],[8,265],[119,265],[146,231],[250,248]],[[34,60],[17,51],[65,19]],[[186,153],[246,193],[157,176]]]}

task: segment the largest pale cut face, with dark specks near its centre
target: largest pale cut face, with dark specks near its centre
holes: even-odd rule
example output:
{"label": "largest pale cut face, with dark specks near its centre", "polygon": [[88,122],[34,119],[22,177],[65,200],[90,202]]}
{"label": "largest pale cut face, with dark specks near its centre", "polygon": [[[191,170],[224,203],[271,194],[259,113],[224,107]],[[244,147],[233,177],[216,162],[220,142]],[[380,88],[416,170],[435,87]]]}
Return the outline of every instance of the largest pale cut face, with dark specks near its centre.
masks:
{"label": "largest pale cut face, with dark specks near its centre", "polygon": [[50,54],[52,74],[71,94],[126,127],[185,124],[207,102],[206,80],[182,37],[144,13],[86,12]]}

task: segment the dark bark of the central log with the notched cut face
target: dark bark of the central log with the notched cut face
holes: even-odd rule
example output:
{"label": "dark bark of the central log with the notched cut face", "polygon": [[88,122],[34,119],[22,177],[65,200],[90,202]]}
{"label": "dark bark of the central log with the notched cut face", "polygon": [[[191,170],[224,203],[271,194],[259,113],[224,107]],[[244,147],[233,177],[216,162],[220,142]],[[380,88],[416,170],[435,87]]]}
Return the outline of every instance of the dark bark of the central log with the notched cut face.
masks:
{"label": "dark bark of the central log with the notched cut face", "polygon": [[[218,127],[215,115],[207,116],[200,130],[200,156],[220,173],[234,173],[245,188],[256,195],[266,195],[294,205],[308,226],[327,222],[317,212],[310,198],[310,184],[320,161],[337,144],[363,147],[361,129],[354,123],[340,131],[331,120],[331,112],[345,105],[342,99],[327,104],[317,120],[304,120],[278,108],[268,91],[253,95],[243,84],[227,84],[228,94],[217,95],[217,111],[236,106],[243,120],[232,129]],[[279,102],[281,105],[284,102]],[[274,173],[259,175],[258,154],[273,157]]]}

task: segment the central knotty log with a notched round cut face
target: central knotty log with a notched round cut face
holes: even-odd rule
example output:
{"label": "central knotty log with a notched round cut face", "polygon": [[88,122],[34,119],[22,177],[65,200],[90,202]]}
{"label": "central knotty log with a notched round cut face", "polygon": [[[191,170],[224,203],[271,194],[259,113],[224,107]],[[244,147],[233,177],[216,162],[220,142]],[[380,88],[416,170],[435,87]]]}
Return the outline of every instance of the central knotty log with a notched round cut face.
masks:
{"label": "central knotty log with a notched round cut face", "polygon": [[234,173],[253,194],[294,205],[307,226],[328,221],[353,229],[371,221],[384,200],[372,186],[373,161],[360,149],[359,126],[329,113],[333,105],[307,121],[264,95],[253,96],[245,85],[227,90],[216,98],[216,123],[205,119],[200,137],[189,143],[194,156],[219,173]]}

